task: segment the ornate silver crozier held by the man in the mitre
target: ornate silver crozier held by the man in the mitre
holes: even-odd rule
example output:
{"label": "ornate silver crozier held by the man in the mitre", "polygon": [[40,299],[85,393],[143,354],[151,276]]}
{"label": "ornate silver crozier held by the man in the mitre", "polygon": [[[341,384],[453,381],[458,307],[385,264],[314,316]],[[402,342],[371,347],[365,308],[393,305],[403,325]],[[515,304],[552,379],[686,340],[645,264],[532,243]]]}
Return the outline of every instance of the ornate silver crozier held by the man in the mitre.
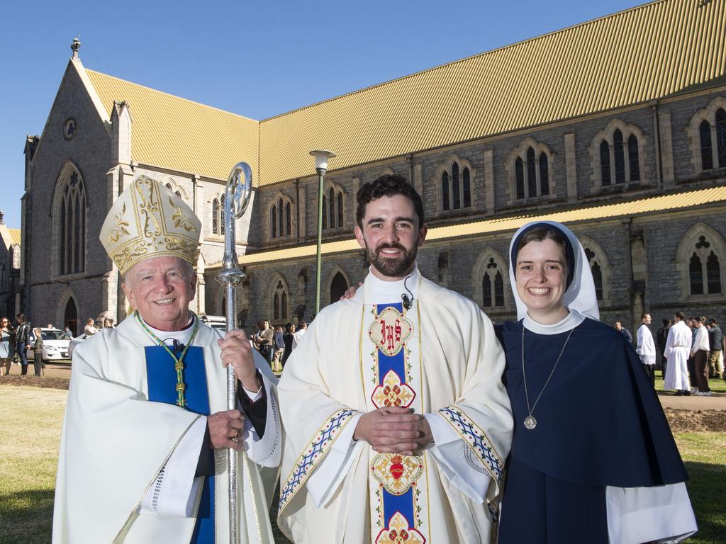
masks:
{"label": "ornate silver crozier held by the man in the mitre", "polygon": [[[227,288],[227,332],[237,325],[237,285],[244,281],[245,273],[240,270],[235,250],[234,221],[242,217],[250,202],[252,192],[252,169],[247,162],[237,162],[227,178],[224,191],[224,258],[217,281]],[[232,365],[227,367],[227,410],[237,409],[237,378]],[[241,455],[245,455],[242,452]],[[237,511],[237,452],[227,450],[227,474],[229,474],[229,543],[239,544],[240,513]]]}

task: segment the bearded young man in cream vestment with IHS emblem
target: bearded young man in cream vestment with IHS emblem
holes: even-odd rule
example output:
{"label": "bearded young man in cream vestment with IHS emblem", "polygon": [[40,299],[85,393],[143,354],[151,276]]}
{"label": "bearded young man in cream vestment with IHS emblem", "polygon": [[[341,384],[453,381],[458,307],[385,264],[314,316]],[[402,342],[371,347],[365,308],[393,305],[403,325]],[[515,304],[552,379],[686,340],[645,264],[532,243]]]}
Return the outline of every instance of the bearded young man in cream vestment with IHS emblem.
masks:
{"label": "bearded young man in cream vestment with IHS emblem", "polygon": [[295,543],[489,543],[512,439],[504,354],[476,304],[418,270],[415,189],[382,176],[357,199],[370,273],[280,382],[278,524]]}

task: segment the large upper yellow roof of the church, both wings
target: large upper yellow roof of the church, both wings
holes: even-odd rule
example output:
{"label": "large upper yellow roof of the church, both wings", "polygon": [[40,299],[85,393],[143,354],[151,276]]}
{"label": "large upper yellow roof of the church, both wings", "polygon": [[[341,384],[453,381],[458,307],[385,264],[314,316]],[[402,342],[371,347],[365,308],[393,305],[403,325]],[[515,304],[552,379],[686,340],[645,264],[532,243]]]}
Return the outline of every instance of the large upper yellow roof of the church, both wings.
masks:
{"label": "large upper yellow roof of the church, both wings", "polygon": [[660,0],[261,122],[87,70],[126,100],[136,162],[268,185],[726,84],[726,0]]}

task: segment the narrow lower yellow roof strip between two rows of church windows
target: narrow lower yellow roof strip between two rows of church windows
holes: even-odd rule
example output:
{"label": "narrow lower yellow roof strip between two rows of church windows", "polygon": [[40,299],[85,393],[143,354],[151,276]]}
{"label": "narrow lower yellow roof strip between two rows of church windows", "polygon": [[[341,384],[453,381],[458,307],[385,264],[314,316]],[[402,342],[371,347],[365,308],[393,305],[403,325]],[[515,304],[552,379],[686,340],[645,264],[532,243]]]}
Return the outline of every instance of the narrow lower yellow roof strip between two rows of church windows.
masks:
{"label": "narrow lower yellow roof strip between two rows of church windows", "polygon": [[[659,195],[644,199],[605,204],[600,206],[579,207],[547,214],[523,214],[506,218],[488,219],[476,223],[462,225],[441,226],[430,228],[426,236],[427,242],[443,239],[455,239],[462,236],[474,236],[502,231],[515,231],[530,221],[558,221],[560,223],[574,223],[577,221],[592,221],[595,219],[611,219],[641,215],[644,213],[664,212],[678,210],[693,206],[710,204],[712,202],[726,202],[726,186],[685,191],[672,194]],[[356,239],[340,240],[322,244],[323,254],[343,253],[359,250]],[[259,253],[250,253],[240,257],[240,265],[269,263],[275,260],[290,260],[315,255],[317,247],[314,244],[291,247],[285,250],[274,250]],[[208,265],[207,268],[219,268],[221,263]]]}

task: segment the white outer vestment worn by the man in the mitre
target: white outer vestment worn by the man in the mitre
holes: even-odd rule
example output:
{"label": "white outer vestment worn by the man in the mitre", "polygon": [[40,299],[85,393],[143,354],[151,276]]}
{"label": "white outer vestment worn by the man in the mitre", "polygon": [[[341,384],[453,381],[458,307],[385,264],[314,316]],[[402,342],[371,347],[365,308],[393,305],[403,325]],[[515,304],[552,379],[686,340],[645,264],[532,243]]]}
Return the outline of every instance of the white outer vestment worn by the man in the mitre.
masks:
{"label": "white outer vestment worn by the man in the mitre", "polygon": [[[218,331],[200,323],[192,344],[203,348],[211,413],[227,410],[227,370],[221,365],[219,338]],[[129,316],[116,329],[104,329],[73,351],[58,460],[54,544],[183,544],[192,537],[202,487],[193,483],[199,480],[194,472],[204,436],[199,429],[204,429],[206,418],[147,400],[144,347],[152,345],[155,342]],[[273,542],[267,509],[282,443],[277,380],[257,354],[255,363],[267,394],[267,418],[261,439],[247,422],[247,451],[237,454],[242,544]],[[190,474],[184,474],[184,462],[179,463],[185,456],[191,459]],[[182,487],[190,495],[180,502],[189,503],[187,511],[159,515],[142,508],[144,497],[165,479],[164,469],[175,461],[181,469],[169,472],[186,480]],[[227,543],[227,450],[215,450],[214,465],[216,542]]]}

